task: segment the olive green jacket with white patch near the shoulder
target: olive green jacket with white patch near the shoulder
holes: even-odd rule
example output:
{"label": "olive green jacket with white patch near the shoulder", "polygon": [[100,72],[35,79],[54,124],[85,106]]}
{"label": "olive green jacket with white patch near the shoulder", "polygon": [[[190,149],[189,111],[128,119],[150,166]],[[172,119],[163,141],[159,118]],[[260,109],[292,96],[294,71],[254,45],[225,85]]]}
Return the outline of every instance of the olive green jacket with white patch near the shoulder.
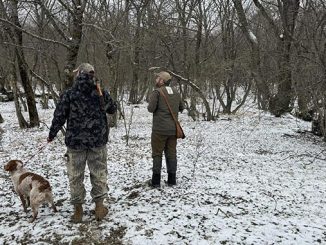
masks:
{"label": "olive green jacket with white patch near the shoulder", "polygon": [[166,95],[176,118],[178,118],[178,112],[182,112],[184,109],[181,96],[175,88],[166,85],[156,88],[149,98],[147,107],[148,111],[153,113],[152,130],[162,135],[175,135],[175,122],[164,98],[160,95],[160,89],[162,89],[163,93]]}

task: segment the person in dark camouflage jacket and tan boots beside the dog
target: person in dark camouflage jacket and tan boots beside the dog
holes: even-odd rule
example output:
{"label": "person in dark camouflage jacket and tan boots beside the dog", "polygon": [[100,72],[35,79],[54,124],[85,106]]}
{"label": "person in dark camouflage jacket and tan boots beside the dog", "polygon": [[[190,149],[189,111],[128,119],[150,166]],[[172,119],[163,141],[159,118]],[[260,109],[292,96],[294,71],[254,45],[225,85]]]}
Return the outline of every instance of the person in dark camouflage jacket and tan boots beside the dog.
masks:
{"label": "person in dark camouflage jacket and tan boots beside the dog", "polygon": [[75,72],[73,87],[62,94],[54,111],[48,142],[67,123],[65,144],[71,203],[74,205],[72,221],[78,223],[82,221],[82,204],[86,196],[83,183],[86,163],[92,183],[91,196],[96,204],[95,218],[101,220],[108,213],[103,205],[108,193],[106,113],[115,113],[117,105],[106,90],[97,86],[92,65],[82,63]]}

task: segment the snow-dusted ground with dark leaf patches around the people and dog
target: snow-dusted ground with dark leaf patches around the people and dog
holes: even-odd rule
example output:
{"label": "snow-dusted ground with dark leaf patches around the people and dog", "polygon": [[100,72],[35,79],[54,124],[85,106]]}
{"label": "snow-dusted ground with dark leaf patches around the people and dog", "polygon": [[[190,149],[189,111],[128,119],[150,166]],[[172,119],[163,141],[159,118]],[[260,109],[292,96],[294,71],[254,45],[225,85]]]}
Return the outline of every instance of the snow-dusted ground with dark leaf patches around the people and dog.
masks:
{"label": "snow-dusted ground with dark leaf patches around the people and dog", "polygon": [[[126,120],[131,107],[127,106]],[[40,128],[21,130],[12,103],[1,103],[3,166],[26,160],[46,142],[53,109],[39,110]],[[69,222],[72,207],[65,146],[57,140],[28,162],[47,177],[58,213],[43,206],[35,223],[23,212],[9,176],[0,169],[0,244],[325,244],[325,143],[291,115],[275,118],[253,108],[216,122],[181,115],[178,185],[151,189],[151,114],[133,108],[128,146],[119,121],[108,143],[109,215],[93,218],[89,176],[84,223]],[[88,171],[87,171],[88,173]],[[166,179],[165,167],[163,179]]]}

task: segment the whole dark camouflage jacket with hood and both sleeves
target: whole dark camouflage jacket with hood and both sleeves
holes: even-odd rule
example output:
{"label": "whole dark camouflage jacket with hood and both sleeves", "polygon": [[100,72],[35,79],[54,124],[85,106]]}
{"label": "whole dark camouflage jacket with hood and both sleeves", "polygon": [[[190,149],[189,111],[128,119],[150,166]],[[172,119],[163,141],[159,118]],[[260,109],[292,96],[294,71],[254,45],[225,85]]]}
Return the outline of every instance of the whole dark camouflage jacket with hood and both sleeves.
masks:
{"label": "whole dark camouflage jacket with hood and both sleeves", "polygon": [[117,110],[116,102],[109,93],[99,96],[93,79],[82,74],[73,87],[65,91],[54,111],[49,139],[54,139],[67,122],[65,143],[72,149],[89,149],[103,146],[108,141],[106,113]]}

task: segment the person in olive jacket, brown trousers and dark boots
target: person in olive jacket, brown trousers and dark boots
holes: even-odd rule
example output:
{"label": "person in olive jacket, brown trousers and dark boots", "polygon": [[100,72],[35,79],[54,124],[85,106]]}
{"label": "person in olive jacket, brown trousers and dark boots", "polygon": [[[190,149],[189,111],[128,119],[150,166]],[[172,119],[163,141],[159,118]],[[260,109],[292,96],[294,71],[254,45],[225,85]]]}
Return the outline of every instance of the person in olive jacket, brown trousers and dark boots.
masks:
{"label": "person in olive jacket, brown trousers and dark boots", "polygon": [[153,113],[153,127],[151,135],[153,175],[151,185],[159,187],[161,184],[162,155],[165,154],[166,168],[168,172],[168,184],[176,184],[177,171],[177,138],[176,125],[169,111],[167,102],[160,94],[163,92],[175,115],[184,109],[179,92],[170,87],[171,75],[167,72],[160,72],[156,75],[156,89],[152,92],[148,111]]}

